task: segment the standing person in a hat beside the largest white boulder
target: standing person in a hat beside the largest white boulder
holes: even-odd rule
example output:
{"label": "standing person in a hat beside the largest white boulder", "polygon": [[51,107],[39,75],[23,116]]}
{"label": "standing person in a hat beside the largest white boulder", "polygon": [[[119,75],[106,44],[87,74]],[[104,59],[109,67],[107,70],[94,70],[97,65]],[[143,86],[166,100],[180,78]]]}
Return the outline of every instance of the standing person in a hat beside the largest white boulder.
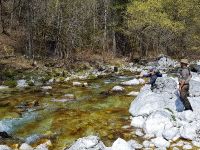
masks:
{"label": "standing person in a hat beside the largest white boulder", "polygon": [[189,96],[189,82],[190,82],[190,79],[192,78],[192,75],[188,68],[189,63],[187,59],[181,59],[180,63],[181,63],[181,69],[180,69],[180,75],[179,75],[180,98],[185,107],[185,110],[193,111],[192,106],[187,98]]}

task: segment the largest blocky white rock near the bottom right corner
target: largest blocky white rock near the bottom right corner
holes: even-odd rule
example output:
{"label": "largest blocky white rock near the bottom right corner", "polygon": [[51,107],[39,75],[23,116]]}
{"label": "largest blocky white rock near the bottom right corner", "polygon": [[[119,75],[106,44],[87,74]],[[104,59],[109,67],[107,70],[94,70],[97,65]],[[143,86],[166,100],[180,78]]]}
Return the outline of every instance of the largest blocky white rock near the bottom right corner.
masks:
{"label": "largest blocky white rock near the bottom right corner", "polygon": [[194,140],[196,137],[196,125],[186,124],[180,128],[180,135],[184,139]]}

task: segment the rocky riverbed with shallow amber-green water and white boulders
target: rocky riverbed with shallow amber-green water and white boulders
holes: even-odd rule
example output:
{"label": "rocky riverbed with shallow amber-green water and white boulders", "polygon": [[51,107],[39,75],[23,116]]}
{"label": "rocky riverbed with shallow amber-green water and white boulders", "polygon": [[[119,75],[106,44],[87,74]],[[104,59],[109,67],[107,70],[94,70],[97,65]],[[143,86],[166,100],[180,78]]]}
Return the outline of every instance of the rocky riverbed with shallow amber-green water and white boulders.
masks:
{"label": "rocky riverbed with shallow amber-green water and white boulders", "polygon": [[[151,91],[134,75],[153,66],[164,77]],[[1,136],[0,149],[198,149],[200,77],[193,73],[191,81],[194,112],[184,112],[170,73],[177,66],[161,57],[117,72],[106,66],[43,83],[22,78],[14,88],[1,85],[0,132],[8,137]]]}

